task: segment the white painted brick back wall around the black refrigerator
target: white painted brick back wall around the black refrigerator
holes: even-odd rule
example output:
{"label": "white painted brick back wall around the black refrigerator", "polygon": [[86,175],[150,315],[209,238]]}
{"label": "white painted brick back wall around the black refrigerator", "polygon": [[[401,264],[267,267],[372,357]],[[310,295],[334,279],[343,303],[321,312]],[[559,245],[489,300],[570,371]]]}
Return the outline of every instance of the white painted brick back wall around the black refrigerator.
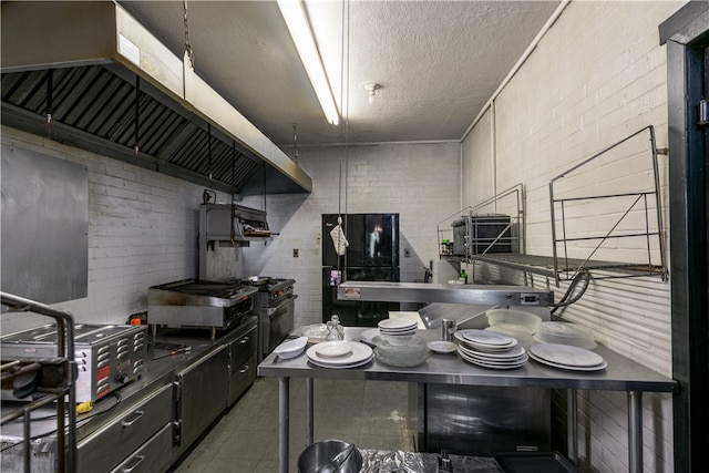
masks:
{"label": "white painted brick back wall around the black refrigerator", "polygon": [[[319,322],[320,241],[329,238],[320,235],[321,214],[382,212],[400,214],[401,280],[421,280],[423,267],[438,259],[436,224],[460,209],[460,153],[458,143],[349,146],[347,152],[299,147],[299,164],[312,177],[312,193],[267,196],[268,225],[280,235],[266,246],[244,249],[245,273],[296,279],[297,322]],[[340,163],[347,169],[341,192]],[[263,198],[248,197],[243,204],[263,208]],[[292,257],[294,248],[298,258]],[[408,258],[404,248],[411,249]]]}

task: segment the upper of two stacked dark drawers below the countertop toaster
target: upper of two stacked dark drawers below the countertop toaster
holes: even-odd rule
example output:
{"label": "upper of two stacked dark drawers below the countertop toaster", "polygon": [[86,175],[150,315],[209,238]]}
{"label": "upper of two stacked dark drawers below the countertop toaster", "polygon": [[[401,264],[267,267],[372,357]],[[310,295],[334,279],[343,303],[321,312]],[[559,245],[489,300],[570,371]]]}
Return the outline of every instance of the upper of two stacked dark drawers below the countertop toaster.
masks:
{"label": "upper of two stacked dark drawers below the countertop toaster", "polygon": [[76,445],[79,472],[111,471],[173,418],[173,385],[124,410]]}

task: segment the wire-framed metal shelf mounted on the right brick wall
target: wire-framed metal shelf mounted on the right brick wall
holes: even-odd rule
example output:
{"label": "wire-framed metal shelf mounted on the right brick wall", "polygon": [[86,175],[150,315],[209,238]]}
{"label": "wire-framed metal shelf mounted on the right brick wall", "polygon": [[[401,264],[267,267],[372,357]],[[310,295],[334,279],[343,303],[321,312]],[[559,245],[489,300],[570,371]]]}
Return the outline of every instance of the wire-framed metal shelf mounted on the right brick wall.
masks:
{"label": "wire-framed metal shelf mounted on the right brick wall", "polygon": [[[641,136],[646,136],[649,141],[649,153],[637,151],[630,153],[626,150],[626,147],[637,147],[636,142]],[[629,192],[620,189],[621,192],[617,193],[576,195],[593,187],[584,183],[584,177],[579,177],[577,171],[582,168],[586,171],[596,165],[596,169],[592,168],[592,171],[603,174],[605,169],[602,164],[598,164],[598,161],[608,160],[612,153],[625,152],[629,152],[644,163],[648,161],[646,154],[649,154],[650,164],[647,166],[650,179],[650,184],[647,186],[649,189]],[[494,245],[489,241],[486,249],[475,251],[474,236],[466,232],[469,240],[464,243],[465,250],[461,251],[460,247],[455,249],[454,240],[452,255],[448,247],[441,245],[441,258],[456,258],[467,263],[481,261],[537,274],[553,278],[557,287],[561,281],[573,280],[580,271],[589,271],[595,279],[658,276],[665,281],[668,270],[662,228],[662,203],[659,192],[659,154],[667,154],[667,150],[657,148],[655,127],[649,125],[554,177],[549,182],[552,256],[535,256],[525,253],[525,196],[522,184],[518,184],[512,189],[455,214],[455,217],[460,219],[464,216],[475,215],[480,208],[490,205],[495,208],[512,208],[510,227],[499,234],[499,237],[504,240],[504,235],[507,235],[504,232],[507,229],[511,232],[508,234],[511,235],[508,250],[494,251],[492,250]],[[613,163],[615,161],[612,161],[610,164],[606,163],[605,166],[610,167]],[[613,175],[608,176],[608,179],[614,177]],[[635,182],[618,181],[619,187],[623,187],[623,184],[637,185]],[[627,187],[630,186],[627,185]],[[501,206],[502,199],[513,195],[516,197],[516,205]],[[597,210],[597,213],[594,214],[593,210]],[[449,217],[439,224],[440,241],[441,238],[445,238],[445,235],[453,233],[453,228],[442,228],[444,225],[452,225],[452,218]],[[623,240],[626,241],[625,246]],[[495,244],[499,241],[494,240]],[[625,251],[625,247],[631,250]],[[628,261],[617,261],[616,257],[618,259],[627,257]]]}

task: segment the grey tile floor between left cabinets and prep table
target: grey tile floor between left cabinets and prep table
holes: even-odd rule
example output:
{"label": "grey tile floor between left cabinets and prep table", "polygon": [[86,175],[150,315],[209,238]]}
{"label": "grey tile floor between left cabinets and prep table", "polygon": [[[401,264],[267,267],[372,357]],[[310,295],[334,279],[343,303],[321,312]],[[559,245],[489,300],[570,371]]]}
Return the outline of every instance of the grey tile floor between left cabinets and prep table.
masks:
{"label": "grey tile floor between left cabinets and prep table", "polygon": [[[315,441],[339,439],[361,449],[413,451],[408,383],[314,381]],[[305,444],[305,380],[290,380],[290,462]],[[174,473],[278,471],[278,380],[258,378],[175,466]]]}

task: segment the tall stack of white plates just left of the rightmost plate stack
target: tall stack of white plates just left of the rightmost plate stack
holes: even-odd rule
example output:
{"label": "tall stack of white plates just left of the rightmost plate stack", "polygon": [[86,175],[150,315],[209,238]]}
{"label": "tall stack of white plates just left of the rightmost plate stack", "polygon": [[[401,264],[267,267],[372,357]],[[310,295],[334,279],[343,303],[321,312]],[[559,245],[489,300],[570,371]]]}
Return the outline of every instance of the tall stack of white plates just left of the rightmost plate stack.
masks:
{"label": "tall stack of white plates just left of the rightmost plate stack", "polygon": [[460,342],[461,358],[479,367],[508,370],[523,367],[528,360],[525,349],[514,337],[485,330],[459,330],[453,336]]}

